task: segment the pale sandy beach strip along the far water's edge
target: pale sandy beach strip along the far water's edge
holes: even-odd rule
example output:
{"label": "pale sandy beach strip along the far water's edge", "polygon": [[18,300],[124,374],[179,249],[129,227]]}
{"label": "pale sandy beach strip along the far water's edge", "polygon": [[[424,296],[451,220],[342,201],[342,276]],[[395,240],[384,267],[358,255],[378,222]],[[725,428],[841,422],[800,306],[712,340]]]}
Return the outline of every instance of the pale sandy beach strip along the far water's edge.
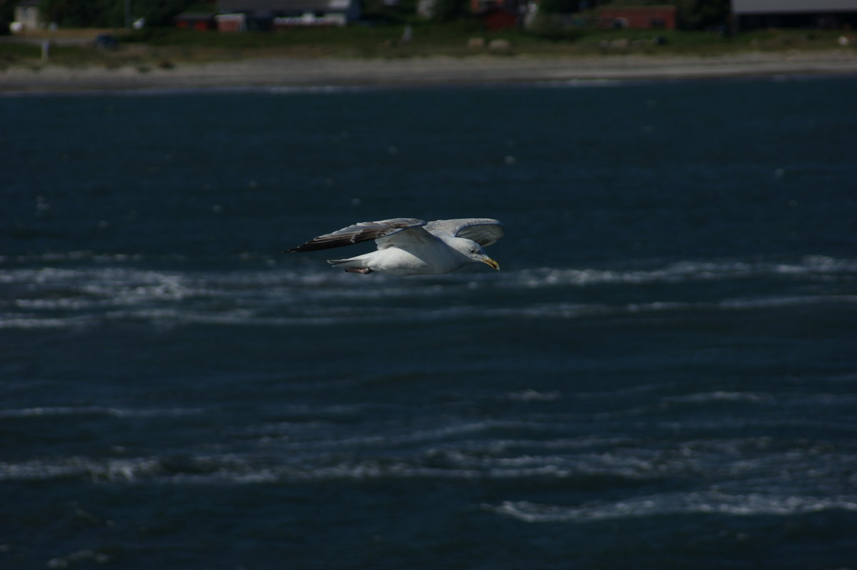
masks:
{"label": "pale sandy beach strip along the far water's edge", "polygon": [[0,71],[0,93],[230,87],[420,86],[446,83],[704,79],[857,74],[857,51],[746,52],[719,57],[473,56],[402,59],[276,57],[169,69],[122,67]]}

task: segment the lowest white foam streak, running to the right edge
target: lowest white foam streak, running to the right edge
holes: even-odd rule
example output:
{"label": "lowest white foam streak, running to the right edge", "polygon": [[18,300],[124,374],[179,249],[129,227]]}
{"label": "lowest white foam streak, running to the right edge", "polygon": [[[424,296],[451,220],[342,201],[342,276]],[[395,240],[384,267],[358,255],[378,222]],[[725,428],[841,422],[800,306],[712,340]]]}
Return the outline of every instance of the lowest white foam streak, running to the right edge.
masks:
{"label": "lowest white foam streak, running to the right edge", "polygon": [[854,512],[857,511],[857,495],[834,497],[762,493],[731,495],[706,490],[647,495],[625,501],[596,502],[576,507],[543,505],[529,501],[505,501],[500,505],[487,505],[485,509],[491,513],[528,523],[586,523],[699,513],[789,516],[830,510]]}

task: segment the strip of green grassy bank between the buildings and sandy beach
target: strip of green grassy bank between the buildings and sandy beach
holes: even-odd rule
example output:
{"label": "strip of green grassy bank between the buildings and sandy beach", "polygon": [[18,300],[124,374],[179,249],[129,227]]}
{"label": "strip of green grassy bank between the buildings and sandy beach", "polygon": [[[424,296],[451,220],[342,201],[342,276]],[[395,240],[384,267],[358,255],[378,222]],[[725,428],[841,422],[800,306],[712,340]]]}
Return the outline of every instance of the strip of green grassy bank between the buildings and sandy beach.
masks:
{"label": "strip of green grassy bank between the buildings and sandy beach", "polygon": [[[87,38],[105,30],[62,30],[53,38],[50,63],[65,66],[98,65],[122,67],[172,67],[178,63],[235,61],[256,57],[468,57],[489,53],[497,57],[591,56],[604,54],[718,56],[741,51],[812,51],[840,46],[836,31],[764,30],[722,36],[711,32],[680,30],[573,29],[559,33],[530,33],[519,30],[485,32],[476,21],[448,24],[411,24],[411,40],[403,40],[403,25],[351,26],[344,28],[294,28],[274,33],[215,33],[150,29],[136,33],[114,32],[116,50],[99,50]],[[60,42],[76,38],[75,45]],[[44,65],[40,40],[51,35],[5,39],[0,43],[0,69],[13,65]],[[471,41],[481,39],[482,41]],[[491,41],[505,40],[505,47],[492,49]],[[28,41],[29,43],[21,43]],[[848,48],[854,50],[854,46]]]}

